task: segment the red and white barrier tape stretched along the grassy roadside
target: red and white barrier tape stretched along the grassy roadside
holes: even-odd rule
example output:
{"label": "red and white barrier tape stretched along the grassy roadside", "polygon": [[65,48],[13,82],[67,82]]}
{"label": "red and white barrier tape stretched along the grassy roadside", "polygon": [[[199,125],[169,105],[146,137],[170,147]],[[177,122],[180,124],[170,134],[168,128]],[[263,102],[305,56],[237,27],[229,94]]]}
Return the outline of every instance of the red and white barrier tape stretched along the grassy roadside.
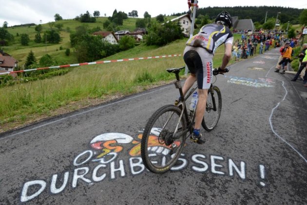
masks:
{"label": "red and white barrier tape stretched along the grassy roadside", "polygon": [[103,64],[103,63],[114,63],[114,62],[122,62],[122,61],[145,60],[145,59],[153,59],[153,58],[167,58],[167,57],[177,57],[177,56],[181,56],[181,54],[159,55],[159,56],[140,57],[140,58],[126,58],[126,59],[109,60],[109,61],[96,61],[96,62],[90,62],[90,63],[77,63],[77,64],[70,64],[70,65],[62,65],[62,66],[51,66],[51,67],[46,67],[46,68],[33,68],[33,69],[27,69],[27,70],[0,72],[0,75],[11,74],[11,73],[18,73],[18,72],[28,72],[28,71],[34,71],[34,70],[45,70],[45,69],[52,69],[52,68],[69,68],[69,67],[75,67],[75,66],[86,66],[86,65],[94,65],[94,64]]}

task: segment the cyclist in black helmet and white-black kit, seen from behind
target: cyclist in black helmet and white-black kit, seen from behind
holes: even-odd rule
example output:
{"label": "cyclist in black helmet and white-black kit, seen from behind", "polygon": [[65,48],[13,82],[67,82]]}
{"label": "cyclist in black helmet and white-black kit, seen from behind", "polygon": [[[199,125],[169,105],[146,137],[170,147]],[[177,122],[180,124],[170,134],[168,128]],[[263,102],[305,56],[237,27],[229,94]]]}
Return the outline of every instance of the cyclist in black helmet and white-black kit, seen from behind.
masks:
{"label": "cyclist in black helmet and white-black kit, seen from behind", "polygon": [[230,32],[232,18],[227,11],[217,15],[215,23],[204,25],[198,34],[192,36],[186,43],[183,59],[189,68],[191,75],[183,85],[183,94],[185,95],[194,82],[197,80],[198,103],[195,113],[195,124],[191,139],[198,144],[205,142],[201,138],[199,129],[204,117],[208,89],[212,80],[213,55],[217,47],[225,43],[225,53],[219,72],[227,72],[225,68],[231,58],[231,49],[233,35]]}

